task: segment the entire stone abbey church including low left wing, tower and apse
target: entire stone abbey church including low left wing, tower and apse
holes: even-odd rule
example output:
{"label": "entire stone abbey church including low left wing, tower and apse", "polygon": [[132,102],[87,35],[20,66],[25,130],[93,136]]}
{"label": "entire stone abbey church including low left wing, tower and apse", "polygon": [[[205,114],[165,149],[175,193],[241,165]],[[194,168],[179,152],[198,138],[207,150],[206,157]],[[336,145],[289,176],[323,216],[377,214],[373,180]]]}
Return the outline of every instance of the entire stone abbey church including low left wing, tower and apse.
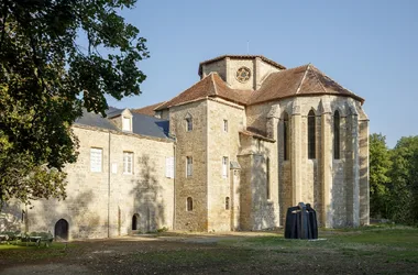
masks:
{"label": "entire stone abbey church including low left wing, tower and apse", "polygon": [[364,99],[311,64],[264,56],[219,56],[198,73],[168,101],[86,112],[67,199],[9,205],[0,227],[69,240],[263,230],[300,201],[322,227],[369,223]]}

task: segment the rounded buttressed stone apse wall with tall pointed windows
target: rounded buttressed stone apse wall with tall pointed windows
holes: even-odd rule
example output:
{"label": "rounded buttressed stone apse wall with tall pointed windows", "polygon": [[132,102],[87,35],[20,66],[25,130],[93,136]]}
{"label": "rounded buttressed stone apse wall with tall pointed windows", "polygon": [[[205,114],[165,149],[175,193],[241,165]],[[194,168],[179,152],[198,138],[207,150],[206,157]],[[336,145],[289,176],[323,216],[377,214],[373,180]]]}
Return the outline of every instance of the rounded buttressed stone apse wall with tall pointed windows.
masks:
{"label": "rounded buttressed stone apse wall with tall pointed windows", "polygon": [[[327,102],[327,110],[323,109],[323,102]],[[297,205],[299,201],[312,205],[317,210],[318,220],[322,226],[355,226],[358,224],[359,211],[362,211],[361,216],[364,217],[364,222],[362,223],[369,222],[369,205],[366,202],[369,201],[369,143],[365,138],[367,135],[369,125],[366,122],[356,122],[346,119],[348,116],[352,113],[353,108],[361,109],[361,106],[351,98],[336,96],[299,97],[297,99],[266,102],[250,106],[246,109],[249,127],[271,132],[266,125],[270,123],[267,117],[273,106],[279,106],[280,110],[280,120],[276,124],[278,148],[277,168],[279,169],[278,191],[282,212],[280,224],[284,224],[286,209]],[[300,113],[299,117],[296,116],[298,117],[296,124],[295,121],[293,121],[295,117],[292,116],[295,113],[295,110],[297,110],[297,113]],[[315,110],[316,113],[315,160],[308,160],[307,154],[307,114],[310,110]],[[333,114],[336,110],[339,111],[341,118],[340,160],[333,160]],[[289,161],[284,161],[283,154],[283,118],[285,112],[289,116],[290,144],[297,144],[296,147],[294,145],[292,146],[293,150],[296,150],[294,152],[297,154],[290,154]],[[322,129],[323,123],[327,123],[326,129]],[[360,130],[354,131],[354,125],[355,128],[360,127]],[[296,129],[292,129],[295,127]],[[323,133],[327,133],[326,140],[323,140]],[[360,141],[358,141],[358,139],[353,140],[353,136],[359,136]],[[324,144],[326,151],[323,151]],[[360,164],[359,161],[355,161],[359,160],[359,153],[355,153],[359,152],[359,144],[363,144],[360,145]],[[362,146],[363,150],[361,150]],[[327,166],[324,166],[324,160],[322,160],[324,156],[327,156]],[[293,157],[300,158],[299,161],[292,161]],[[360,187],[358,184],[359,173],[362,173]],[[295,180],[295,176],[300,179]],[[323,183],[324,178],[329,180],[327,185]],[[359,188],[363,195],[359,195]],[[362,202],[359,202],[359,196]],[[359,210],[359,208],[362,210]],[[327,224],[324,223],[327,218],[323,216],[323,211],[328,212],[328,217],[332,217]]]}

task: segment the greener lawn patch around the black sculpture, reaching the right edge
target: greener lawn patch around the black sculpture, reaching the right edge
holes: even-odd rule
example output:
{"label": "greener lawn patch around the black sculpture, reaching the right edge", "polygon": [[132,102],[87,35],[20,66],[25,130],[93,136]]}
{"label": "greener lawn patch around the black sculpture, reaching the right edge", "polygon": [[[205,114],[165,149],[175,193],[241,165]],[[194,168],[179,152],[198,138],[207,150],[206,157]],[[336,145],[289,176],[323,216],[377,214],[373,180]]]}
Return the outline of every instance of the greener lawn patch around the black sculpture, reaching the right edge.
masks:
{"label": "greener lawn patch around the black sculpture, reaching the right edge", "polygon": [[320,230],[318,240],[288,240],[283,235],[227,240],[220,244],[251,250],[297,253],[309,252],[369,256],[371,261],[418,263],[418,229],[408,227],[367,227]]}

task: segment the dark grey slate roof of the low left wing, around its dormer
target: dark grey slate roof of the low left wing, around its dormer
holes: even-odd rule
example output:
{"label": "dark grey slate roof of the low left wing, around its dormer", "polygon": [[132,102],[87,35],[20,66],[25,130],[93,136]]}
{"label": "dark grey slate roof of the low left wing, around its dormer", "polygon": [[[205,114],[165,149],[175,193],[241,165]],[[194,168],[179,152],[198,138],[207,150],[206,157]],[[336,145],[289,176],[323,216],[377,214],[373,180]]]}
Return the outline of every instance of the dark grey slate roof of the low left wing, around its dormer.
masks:
{"label": "dark grey slate roof of the low left wing, around its dormer", "polygon": [[[122,111],[123,109],[110,107],[107,113],[122,113]],[[103,118],[100,113],[87,112],[87,110],[82,110],[82,117],[78,118],[75,123],[123,132],[117,128],[109,119]],[[142,113],[132,113],[132,133],[153,138],[169,139],[168,129],[169,122],[167,120],[161,120]]]}

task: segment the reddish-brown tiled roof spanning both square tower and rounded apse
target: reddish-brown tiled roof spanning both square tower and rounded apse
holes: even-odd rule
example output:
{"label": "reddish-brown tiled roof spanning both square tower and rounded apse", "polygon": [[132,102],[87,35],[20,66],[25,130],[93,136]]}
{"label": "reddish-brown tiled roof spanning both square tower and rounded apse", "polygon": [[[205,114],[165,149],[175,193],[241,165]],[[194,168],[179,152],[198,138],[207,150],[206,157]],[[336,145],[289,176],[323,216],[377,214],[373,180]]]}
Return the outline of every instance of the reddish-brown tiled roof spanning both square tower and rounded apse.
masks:
{"label": "reddish-brown tiled roof spanning both square tower and rounded apse", "polygon": [[363,98],[345,89],[314,65],[308,64],[272,73],[263,81],[261,88],[255,91],[232,89],[217,73],[211,73],[177,97],[155,108],[155,110],[163,110],[206,97],[219,97],[243,106],[251,106],[309,95],[344,96],[354,98],[362,103],[364,102]]}

